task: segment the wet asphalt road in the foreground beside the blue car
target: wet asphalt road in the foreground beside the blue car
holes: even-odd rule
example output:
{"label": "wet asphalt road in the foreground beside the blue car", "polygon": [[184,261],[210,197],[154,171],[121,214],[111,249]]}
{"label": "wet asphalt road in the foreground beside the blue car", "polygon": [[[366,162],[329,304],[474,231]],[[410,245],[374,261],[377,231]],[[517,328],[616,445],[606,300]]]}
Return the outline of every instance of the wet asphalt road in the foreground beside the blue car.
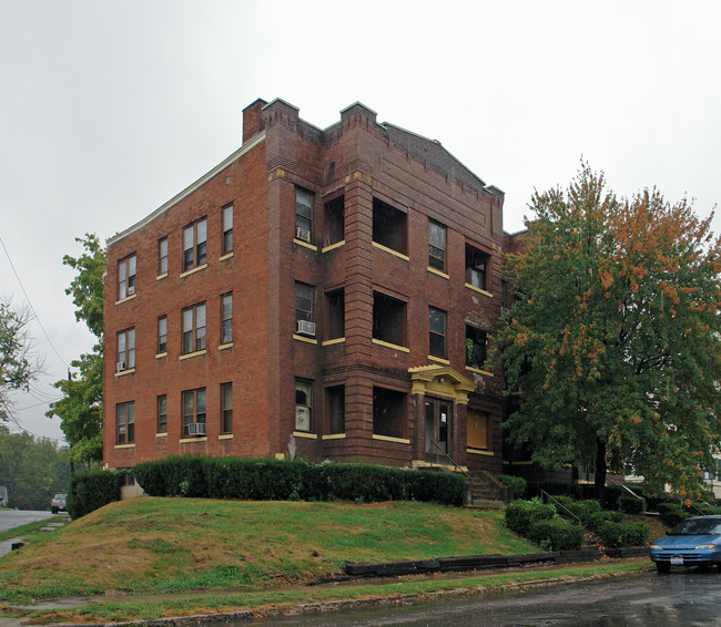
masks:
{"label": "wet asphalt road in the foreground beside the blue car", "polygon": [[[238,624],[240,627],[241,624]],[[588,584],[479,595],[405,607],[315,614],[244,625],[303,627],[466,627],[479,625],[622,627],[721,626],[721,574],[678,571]]]}

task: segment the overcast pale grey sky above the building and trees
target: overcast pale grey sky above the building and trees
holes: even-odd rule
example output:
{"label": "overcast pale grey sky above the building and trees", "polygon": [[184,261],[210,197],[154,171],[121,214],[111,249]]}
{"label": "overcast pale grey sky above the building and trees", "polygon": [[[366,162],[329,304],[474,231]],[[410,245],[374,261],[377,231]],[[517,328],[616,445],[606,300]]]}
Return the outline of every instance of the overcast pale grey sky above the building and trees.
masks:
{"label": "overcast pale grey sky above the building and trees", "polygon": [[[0,237],[52,342],[33,321],[47,374],[18,423],[61,436],[51,383],[92,346],[63,292],[74,238],[106,239],[230,155],[257,97],[322,129],[360,101],[438,140],[506,192],[508,232],[581,155],[620,195],[656,185],[708,215],[720,18],[711,0],[0,0]],[[26,302],[1,248],[0,295]]]}

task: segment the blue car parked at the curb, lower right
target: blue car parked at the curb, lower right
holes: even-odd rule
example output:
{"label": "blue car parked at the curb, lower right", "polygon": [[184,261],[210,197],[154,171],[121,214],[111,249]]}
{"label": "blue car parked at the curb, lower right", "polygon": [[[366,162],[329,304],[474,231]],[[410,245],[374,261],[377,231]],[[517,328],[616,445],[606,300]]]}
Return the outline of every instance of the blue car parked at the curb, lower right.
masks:
{"label": "blue car parked at the curb, lower right", "polygon": [[659,573],[671,566],[721,568],[721,516],[694,516],[676,525],[666,537],[651,545],[651,561]]}

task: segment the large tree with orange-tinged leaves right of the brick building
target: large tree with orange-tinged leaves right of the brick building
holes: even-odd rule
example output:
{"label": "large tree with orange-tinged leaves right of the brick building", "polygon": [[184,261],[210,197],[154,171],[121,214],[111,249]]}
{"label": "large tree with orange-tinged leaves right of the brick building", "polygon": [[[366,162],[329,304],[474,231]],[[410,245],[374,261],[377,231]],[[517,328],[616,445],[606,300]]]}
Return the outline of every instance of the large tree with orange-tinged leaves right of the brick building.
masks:
{"label": "large tree with orange-tinged leaves right of the brick building", "polygon": [[711,217],[656,189],[619,199],[588,164],[531,206],[522,251],[507,258],[517,300],[496,347],[521,390],[510,438],[546,467],[595,460],[599,495],[609,464],[626,462],[651,490],[698,496],[721,433]]}

